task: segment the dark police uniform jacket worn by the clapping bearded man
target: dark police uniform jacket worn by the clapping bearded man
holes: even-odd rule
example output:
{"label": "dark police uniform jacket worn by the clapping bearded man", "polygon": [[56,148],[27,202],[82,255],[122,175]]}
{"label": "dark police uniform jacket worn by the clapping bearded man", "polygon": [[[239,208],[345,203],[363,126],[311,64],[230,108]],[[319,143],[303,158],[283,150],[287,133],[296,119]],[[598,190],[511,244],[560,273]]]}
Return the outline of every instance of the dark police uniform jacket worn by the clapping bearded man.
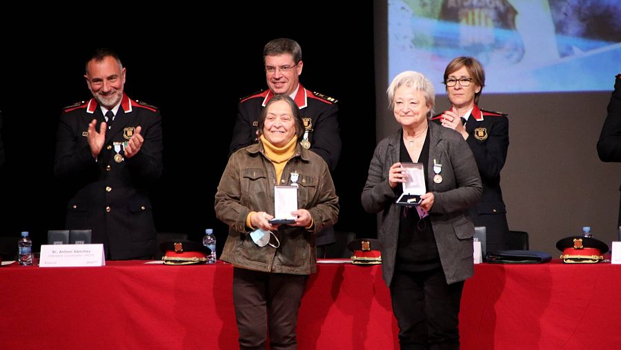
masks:
{"label": "dark police uniform jacket worn by the clapping bearded man", "polygon": [[[155,224],[147,190],[162,170],[159,111],[124,94],[97,159],[87,140],[92,119],[97,119],[97,131],[106,121],[94,98],[66,108],[60,117],[55,174],[67,179],[75,191],[67,207],[67,229],[91,229],[92,242],[103,243],[106,256],[113,260],[152,255]],[[117,150],[123,155],[120,143],[128,141],[138,126],[144,137],[141,149],[116,162]]]}

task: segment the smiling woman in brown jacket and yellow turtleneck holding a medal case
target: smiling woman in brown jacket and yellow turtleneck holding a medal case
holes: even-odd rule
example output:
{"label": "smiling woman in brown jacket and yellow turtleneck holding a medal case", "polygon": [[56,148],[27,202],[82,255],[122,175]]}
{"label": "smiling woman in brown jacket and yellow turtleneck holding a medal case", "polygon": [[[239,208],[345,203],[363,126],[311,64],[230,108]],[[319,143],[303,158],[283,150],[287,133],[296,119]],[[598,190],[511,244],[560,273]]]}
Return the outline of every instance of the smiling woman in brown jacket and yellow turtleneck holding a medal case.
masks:
{"label": "smiling woman in brown jacket and yellow turtleneck holding a medal case", "polygon": [[[302,135],[293,99],[275,95],[259,117],[259,143],[230,156],[215,195],[215,213],[229,226],[221,260],[233,264],[240,349],[265,349],[268,330],[271,349],[295,349],[297,311],[316,269],[315,236],[337,222],[328,166],[300,144]],[[293,191],[295,220],[270,222],[275,185]]]}

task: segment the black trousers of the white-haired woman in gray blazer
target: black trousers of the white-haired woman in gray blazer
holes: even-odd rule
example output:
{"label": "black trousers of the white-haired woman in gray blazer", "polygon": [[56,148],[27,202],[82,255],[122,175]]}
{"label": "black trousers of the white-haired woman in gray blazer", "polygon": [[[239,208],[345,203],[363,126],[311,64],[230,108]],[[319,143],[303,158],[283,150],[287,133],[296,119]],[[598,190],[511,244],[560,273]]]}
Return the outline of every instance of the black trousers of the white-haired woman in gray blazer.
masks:
{"label": "black trousers of the white-haired woman in gray blazer", "polygon": [[464,282],[446,284],[442,268],[397,271],[391,283],[401,349],[460,349]]}

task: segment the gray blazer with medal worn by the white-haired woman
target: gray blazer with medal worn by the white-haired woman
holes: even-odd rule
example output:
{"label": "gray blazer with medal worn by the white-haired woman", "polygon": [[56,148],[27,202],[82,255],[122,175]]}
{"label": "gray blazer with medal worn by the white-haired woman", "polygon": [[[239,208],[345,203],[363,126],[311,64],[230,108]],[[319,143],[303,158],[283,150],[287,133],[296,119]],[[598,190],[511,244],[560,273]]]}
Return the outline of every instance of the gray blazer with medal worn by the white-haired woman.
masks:
{"label": "gray blazer with medal worn by the white-haired woman", "polygon": [[[465,211],[481,197],[482,184],[477,163],[464,138],[455,130],[429,122],[429,166],[427,192],[434,195],[429,215],[433,235],[440,253],[446,282],[466,280],[474,273],[474,225]],[[382,241],[382,271],[384,281],[391,285],[397,254],[397,237],[401,207],[395,204],[396,195],[388,184],[388,169],[399,162],[402,130],[377,144],[368,178],[362,190],[362,206],[368,213],[382,213],[377,238]],[[433,182],[433,159],[442,164],[442,182]]]}

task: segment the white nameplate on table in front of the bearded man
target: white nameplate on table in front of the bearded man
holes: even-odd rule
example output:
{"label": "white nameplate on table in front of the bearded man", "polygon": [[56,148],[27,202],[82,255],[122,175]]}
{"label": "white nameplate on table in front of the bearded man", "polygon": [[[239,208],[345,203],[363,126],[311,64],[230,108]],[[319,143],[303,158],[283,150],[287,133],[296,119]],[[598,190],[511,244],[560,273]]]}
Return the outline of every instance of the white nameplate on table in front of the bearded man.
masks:
{"label": "white nameplate on table in front of the bearded man", "polygon": [[42,244],[39,267],[106,266],[103,244]]}

